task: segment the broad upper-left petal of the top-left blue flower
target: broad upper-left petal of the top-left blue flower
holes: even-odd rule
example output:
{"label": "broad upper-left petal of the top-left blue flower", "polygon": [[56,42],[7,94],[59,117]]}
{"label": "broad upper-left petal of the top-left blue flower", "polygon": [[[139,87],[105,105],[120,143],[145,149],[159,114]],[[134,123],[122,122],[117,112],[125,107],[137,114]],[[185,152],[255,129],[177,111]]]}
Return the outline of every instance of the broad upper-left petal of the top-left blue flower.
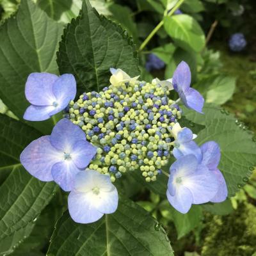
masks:
{"label": "broad upper-left petal of the top-left blue flower", "polygon": [[52,105],[56,101],[52,86],[57,79],[58,76],[54,74],[31,73],[25,87],[26,99],[36,106]]}

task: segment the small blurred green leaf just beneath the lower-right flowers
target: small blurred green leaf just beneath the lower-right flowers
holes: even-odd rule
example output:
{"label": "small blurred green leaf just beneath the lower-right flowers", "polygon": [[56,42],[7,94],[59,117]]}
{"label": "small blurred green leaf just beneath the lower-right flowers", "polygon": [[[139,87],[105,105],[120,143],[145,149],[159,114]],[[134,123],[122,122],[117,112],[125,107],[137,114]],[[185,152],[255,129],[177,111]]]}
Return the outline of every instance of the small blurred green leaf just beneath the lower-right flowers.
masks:
{"label": "small blurred green leaf just beneath the lower-right flowers", "polygon": [[218,204],[204,204],[202,207],[205,211],[211,212],[211,214],[214,215],[227,215],[234,211],[230,199],[227,199],[224,202]]}

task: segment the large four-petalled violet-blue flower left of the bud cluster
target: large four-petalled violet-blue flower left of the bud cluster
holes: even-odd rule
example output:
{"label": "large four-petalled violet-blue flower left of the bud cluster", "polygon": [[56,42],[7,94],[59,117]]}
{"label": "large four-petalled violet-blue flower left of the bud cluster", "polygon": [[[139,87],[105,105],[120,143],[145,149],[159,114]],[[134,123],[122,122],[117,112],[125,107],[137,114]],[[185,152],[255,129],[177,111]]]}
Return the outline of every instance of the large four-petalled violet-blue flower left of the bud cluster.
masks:
{"label": "large four-petalled violet-blue flower left of the bud cluster", "polygon": [[80,127],[61,119],[51,135],[32,141],[22,151],[20,163],[37,179],[54,180],[70,191],[76,174],[88,166],[96,151]]}

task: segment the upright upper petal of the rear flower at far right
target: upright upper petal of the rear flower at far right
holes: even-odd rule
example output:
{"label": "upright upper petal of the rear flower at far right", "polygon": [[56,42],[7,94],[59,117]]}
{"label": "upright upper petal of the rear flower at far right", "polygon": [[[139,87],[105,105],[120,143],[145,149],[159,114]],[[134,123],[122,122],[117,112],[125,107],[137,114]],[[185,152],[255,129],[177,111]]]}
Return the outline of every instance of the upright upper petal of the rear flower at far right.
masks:
{"label": "upright upper petal of the rear flower at far right", "polygon": [[220,147],[215,141],[208,141],[200,147],[202,151],[202,164],[209,170],[216,170],[220,163]]}

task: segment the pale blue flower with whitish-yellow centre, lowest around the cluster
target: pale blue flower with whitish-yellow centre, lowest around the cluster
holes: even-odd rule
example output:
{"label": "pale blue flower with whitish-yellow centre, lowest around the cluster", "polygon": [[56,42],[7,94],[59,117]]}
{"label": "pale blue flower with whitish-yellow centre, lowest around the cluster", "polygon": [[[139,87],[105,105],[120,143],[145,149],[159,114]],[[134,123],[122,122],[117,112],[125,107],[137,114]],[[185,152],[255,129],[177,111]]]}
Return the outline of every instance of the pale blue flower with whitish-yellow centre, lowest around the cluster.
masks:
{"label": "pale blue flower with whitish-yellow centre, lowest around the cluster", "polygon": [[92,223],[116,211],[118,193],[108,175],[85,170],[76,175],[68,195],[68,211],[77,223]]}

